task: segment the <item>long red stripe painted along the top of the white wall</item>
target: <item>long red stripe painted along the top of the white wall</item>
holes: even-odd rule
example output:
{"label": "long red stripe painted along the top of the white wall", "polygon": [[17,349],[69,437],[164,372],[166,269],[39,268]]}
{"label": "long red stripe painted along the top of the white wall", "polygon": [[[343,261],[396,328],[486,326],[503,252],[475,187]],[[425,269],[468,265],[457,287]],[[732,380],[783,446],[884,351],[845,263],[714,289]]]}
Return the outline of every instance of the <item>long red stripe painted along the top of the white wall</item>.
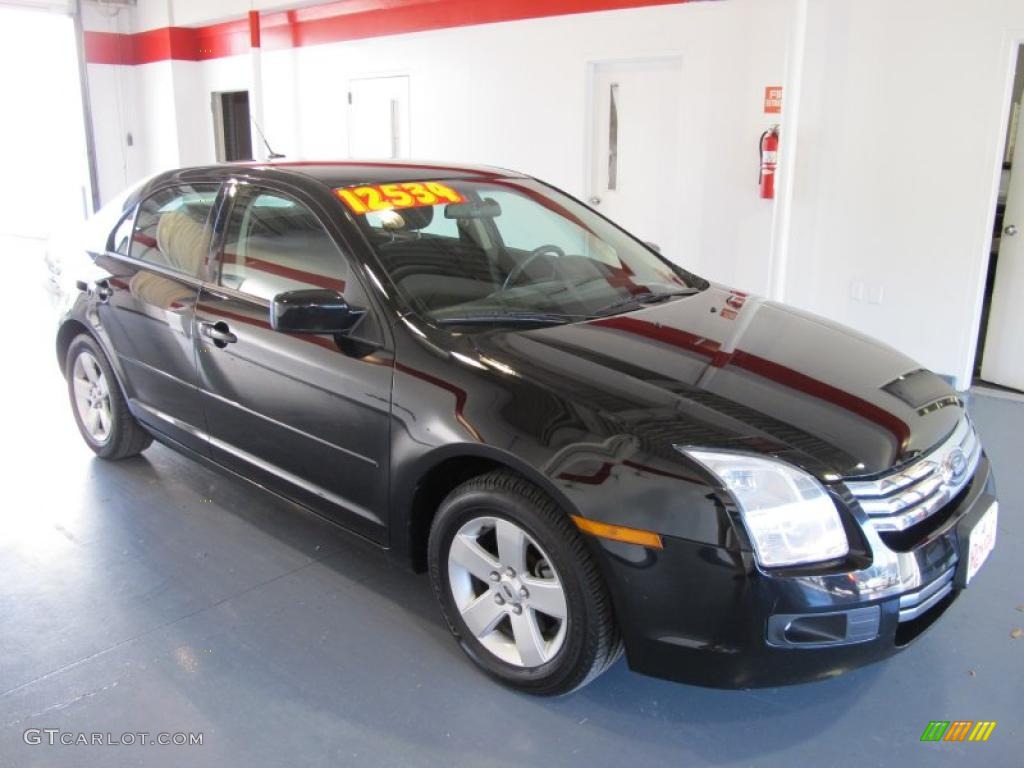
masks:
{"label": "long red stripe painted along the top of the white wall", "polygon": [[411,32],[478,24],[544,18],[572,13],[681,5],[695,0],[341,0],[259,18],[205,27],[163,27],[121,35],[85,33],[89,63],[142,65],[169,59],[203,61],[238,55],[250,45],[298,48]]}

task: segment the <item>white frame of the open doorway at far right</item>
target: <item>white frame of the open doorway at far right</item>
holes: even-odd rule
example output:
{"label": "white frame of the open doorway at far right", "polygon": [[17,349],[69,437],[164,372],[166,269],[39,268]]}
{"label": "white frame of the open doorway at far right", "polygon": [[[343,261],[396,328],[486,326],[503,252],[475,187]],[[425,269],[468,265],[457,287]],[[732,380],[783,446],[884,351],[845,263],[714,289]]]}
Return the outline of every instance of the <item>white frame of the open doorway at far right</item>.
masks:
{"label": "white frame of the open doorway at far right", "polygon": [[[1017,56],[1020,48],[1024,46],[1024,29],[1008,31],[1004,35],[1002,61],[1006,67],[1006,77],[1002,83],[1002,110],[999,116],[999,129],[993,137],[992,145],[995,146],[992,160],[992,178],[989,183],[989,200],[985,225],[983,227],[982,243],[978,249],[980,258],[977,260],[975,270],[975,291],[974,305],[971,308],[971,334],[969,336],[968,348],[963,360],[963,365],[957,377],[957,389],[968,390],[974,384],[974,362],[978,356],[979,342],[984,343],[978,337],[981,334],[981,314],[985,306],[985,279],[988,275],[988,263],[992,258],[992,223],[995,221],[995,213],[999,204],[999,181],[1002,177],[1004,148],[1007,145],[1007,134],[1010,130],[1010,111],[1013,109],[1014,100],[1014,80],[1017,77]],[[1024,169],[1021,169],[1024,171]],[[1013,171],[1011,171],[1012,173]]]}

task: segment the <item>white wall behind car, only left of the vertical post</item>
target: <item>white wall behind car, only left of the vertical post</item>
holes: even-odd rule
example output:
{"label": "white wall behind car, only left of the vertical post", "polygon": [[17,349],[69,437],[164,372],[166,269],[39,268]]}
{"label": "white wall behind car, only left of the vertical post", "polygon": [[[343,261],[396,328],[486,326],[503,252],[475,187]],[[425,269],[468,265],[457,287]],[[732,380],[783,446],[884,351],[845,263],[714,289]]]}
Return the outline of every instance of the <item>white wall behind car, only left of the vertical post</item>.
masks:
{"label": "white wall behind car, only left of the vertical post", "polygon": [[[791,2],[694,3],[268,50],[263,128],[290,159],[347,157],[348,79],[409,74],[415,157],[514,168],[583,196],[588,62],[681,55],[684,87],[675,96],[690,160],[677,223],[685,248],[673,257],[764,292],[771,205],[756,195],[755,141],[771,122],[761,114],[763,88],[783,76],[779,36]],[[209,11],[231,17],[230,5],[220,0]],[[244,5],[234,3],[234,17]],[[171,16],[213,20],[199,13],[177,0]],[[133,69],[145,159],[137,172],[213,162],[210,93],[249,88],[248,55]]]}

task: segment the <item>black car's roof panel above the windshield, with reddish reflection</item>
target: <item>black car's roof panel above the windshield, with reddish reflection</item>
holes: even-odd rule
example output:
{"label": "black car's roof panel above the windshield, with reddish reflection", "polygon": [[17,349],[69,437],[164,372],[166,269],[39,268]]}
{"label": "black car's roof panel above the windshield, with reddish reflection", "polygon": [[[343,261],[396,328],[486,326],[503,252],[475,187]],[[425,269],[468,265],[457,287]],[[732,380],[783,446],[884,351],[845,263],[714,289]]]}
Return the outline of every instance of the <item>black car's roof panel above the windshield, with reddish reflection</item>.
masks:
{"label": "black car's roof panel above the windshield, with reddish reflection", "polygon": [[523,174],[504,168],[461,163],[345,160],[221,163],[169,171],[161,174],[154,181],[164,181],[169,177],[177,177],[182,181],[221,180],[237,174],[266,175],[268,178],[301,176],[318,181],[328,187],[387,184],[400,181],[440,181],[443,179],[524,178]]}

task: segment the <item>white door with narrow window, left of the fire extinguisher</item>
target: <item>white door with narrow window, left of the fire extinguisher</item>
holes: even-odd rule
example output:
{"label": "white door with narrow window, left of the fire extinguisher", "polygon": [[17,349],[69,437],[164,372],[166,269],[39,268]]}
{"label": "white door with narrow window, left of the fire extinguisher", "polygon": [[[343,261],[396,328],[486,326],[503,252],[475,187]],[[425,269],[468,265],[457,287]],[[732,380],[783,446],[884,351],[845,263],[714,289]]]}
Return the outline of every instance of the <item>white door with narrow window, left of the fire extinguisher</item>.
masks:
{"label": "white door with narrow window, left of the fire extinguisher", "polygon": [[589,203],[681,261],[682,62],[594,66]]}

